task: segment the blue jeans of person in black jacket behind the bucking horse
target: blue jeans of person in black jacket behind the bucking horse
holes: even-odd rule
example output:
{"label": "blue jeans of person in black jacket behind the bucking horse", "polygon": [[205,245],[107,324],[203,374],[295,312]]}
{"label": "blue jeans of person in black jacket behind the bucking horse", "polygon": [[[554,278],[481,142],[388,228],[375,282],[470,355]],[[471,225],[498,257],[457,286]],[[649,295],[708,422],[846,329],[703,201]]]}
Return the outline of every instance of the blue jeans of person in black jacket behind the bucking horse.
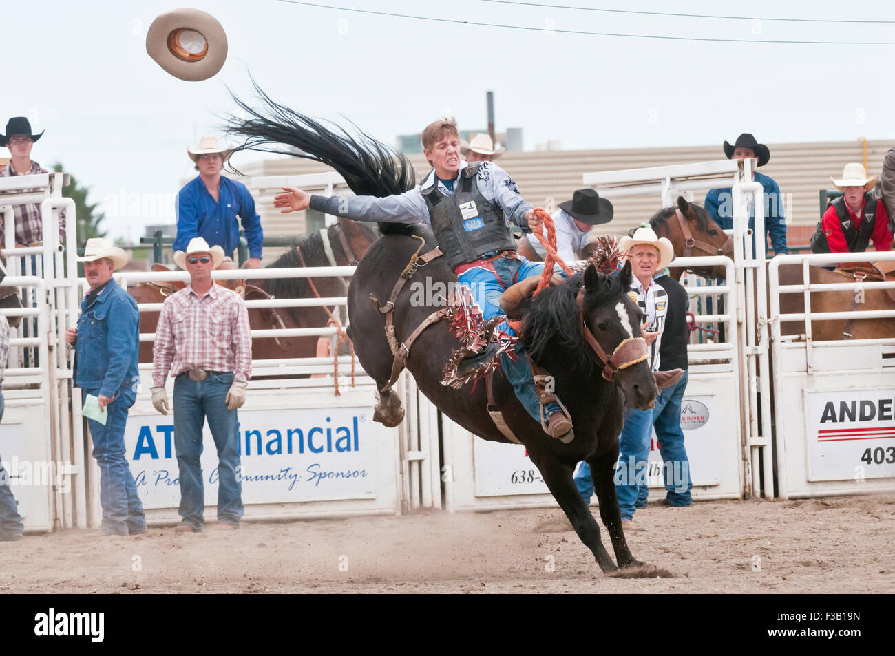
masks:
{"label": "blue jeans of person in black jacket behind the bucking horse", "polygon": [[[689,506],[693,503],[690,490],[690,462],[686,458],[684,431],[680,429],[680,405],[684,399],[687,374],[670,388],[660,389],[652,408],[652,425],[659,442],[665,477],[665,498],[670,506]],[[644,502],[646,496],[644,494]]]}

